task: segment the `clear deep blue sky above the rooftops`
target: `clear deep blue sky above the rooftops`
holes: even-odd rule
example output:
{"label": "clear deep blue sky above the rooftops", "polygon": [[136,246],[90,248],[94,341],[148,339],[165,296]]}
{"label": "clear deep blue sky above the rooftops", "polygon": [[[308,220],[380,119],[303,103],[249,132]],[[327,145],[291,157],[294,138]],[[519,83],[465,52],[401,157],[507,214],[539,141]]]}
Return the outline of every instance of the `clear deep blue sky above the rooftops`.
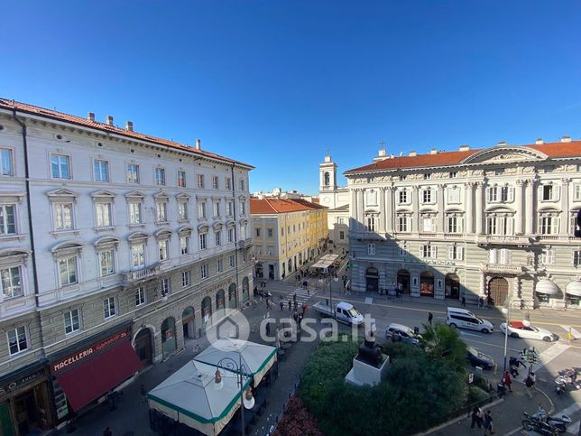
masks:
{"label": "clear deep blue sky above the rooftops", "polygon": [[[578,1],[23,1],[2,7],[0,96],[253,164],[318,190],[388,153],[581,133]],[[345,179],[341,177],[341,183]]]}

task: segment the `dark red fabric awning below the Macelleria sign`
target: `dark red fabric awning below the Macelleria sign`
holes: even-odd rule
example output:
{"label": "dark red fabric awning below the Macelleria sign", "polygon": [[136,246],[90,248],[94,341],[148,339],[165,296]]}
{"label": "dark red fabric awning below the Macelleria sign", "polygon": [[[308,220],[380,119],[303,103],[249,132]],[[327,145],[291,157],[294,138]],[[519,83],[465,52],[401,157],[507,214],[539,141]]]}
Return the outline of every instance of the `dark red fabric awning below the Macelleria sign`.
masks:
{"label": "dark red fabric awning below the Macelleria sign", "polygon": [[87,362],[58,374],[73,410],[97,400],[143,367],[134,348],[124,340]]}

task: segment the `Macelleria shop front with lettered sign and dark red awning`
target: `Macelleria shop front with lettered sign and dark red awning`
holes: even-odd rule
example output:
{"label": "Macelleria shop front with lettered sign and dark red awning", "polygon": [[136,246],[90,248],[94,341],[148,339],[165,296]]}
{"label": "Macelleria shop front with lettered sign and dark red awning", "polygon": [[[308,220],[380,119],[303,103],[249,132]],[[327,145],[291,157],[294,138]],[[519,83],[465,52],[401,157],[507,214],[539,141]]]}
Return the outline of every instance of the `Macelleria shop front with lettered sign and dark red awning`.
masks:
{"label": "Macelleria shop front with lettered sign and dark red awning", "polygon": [[50,360],[60,418],[78,413],[143,368],[131,345],[128,327],[85,340],[82,346],[76,344],[72,350],[67,348]]}

